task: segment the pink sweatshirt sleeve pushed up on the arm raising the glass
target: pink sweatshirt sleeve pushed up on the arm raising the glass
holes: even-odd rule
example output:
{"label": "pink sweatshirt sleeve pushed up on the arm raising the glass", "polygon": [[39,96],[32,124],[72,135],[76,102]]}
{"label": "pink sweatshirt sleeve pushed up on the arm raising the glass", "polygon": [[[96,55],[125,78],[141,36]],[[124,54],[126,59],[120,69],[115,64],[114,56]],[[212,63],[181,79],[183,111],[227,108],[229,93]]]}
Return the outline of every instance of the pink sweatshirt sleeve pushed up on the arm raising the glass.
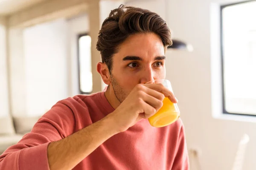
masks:
{"label": "pink sweatshirt sleeve pushed up on the arm raising the glass", "polygon": [[75,119],[70,106],[54,105],[15,145],[0,156],[0,170],[49,170],[47,147],[73,133]]}

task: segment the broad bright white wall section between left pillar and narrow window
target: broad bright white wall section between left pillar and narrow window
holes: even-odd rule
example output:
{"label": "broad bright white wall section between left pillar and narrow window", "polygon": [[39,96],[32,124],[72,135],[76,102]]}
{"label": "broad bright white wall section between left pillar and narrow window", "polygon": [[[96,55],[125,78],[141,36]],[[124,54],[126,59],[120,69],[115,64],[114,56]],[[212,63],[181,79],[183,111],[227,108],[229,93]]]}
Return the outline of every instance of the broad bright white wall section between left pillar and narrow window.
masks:
{"label": "broad bright white wall section between left pillar and narrow window", "polygon": [[28,116],[41,115],[68,97],[67,35],[64,19],[24,29]]}

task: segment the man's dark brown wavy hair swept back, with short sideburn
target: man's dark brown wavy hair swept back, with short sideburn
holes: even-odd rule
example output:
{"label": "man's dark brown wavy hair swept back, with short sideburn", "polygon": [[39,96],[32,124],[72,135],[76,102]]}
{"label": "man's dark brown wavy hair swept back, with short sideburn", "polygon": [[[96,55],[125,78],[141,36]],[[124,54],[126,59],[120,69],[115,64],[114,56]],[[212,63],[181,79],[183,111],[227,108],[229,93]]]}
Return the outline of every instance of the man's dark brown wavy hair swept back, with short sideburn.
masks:
{"label": "man's dark brown wavy hair swept back, with short sideburn", "polygon": [[163,45],[172,45],[171,32],[158,14],[146,9],[120,5],[111,11],[102,23],[96,48],[100,51],[102,62],[106,63],[111,73],[112,57],[118,46],[126,38],[136,33],[153,32],[160,36]]}

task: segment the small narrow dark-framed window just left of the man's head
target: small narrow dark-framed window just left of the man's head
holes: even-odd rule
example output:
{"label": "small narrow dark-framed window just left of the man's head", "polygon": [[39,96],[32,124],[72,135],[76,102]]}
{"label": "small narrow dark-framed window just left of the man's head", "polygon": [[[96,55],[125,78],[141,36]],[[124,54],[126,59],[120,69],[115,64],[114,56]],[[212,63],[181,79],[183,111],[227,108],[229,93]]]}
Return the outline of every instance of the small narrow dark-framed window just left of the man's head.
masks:
{"label": "small narrow dark-framed window just left of the man's head", "polygon": [[93,91],[93,76],[91,67],[91,37],[88,34],[79,35],[78,52],[80,93],[90,94]]}

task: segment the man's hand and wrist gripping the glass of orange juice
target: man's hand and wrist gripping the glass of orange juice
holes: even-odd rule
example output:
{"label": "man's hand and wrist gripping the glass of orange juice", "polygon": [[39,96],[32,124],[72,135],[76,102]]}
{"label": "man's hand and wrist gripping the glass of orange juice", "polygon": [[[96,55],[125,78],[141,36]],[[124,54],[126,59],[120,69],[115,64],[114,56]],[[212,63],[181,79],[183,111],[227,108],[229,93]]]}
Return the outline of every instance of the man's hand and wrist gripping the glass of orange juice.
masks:
{"label": "man's hand and wrist gripping the glass of orange juice", "polygon": [[140,119],[153,116],[163,106],[165,97],[177,103],[174,94],[162,84],[138,84],[109,116],[114,119],[118,131],[123,132]]}

